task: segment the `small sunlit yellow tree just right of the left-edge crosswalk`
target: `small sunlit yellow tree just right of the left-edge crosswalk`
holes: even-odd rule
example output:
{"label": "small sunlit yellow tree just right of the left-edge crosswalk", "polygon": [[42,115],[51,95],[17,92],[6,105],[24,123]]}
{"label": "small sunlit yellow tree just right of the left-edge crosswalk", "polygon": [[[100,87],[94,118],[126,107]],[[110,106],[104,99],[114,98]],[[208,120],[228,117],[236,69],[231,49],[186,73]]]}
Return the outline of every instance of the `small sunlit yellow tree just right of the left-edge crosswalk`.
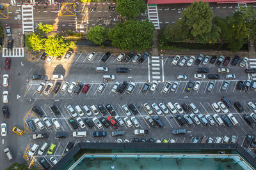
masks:
{"label": "small sunlit yellow tree just right of the left-edge crosswalk", "polygon": [[44,39],[32,32],[26,36],[25,43],[29,50],[40,51],[44,48]]}

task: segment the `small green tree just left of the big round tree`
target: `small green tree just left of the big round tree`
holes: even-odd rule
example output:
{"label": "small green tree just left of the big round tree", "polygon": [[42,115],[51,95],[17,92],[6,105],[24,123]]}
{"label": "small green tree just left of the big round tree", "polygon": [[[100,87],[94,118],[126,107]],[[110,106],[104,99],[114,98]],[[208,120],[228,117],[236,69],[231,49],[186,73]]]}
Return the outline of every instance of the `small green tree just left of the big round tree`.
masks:
{"label": "small green tree just left of the big round tree", "polygon": [[96,25],[95,27],[91,27],[87,33],[87,38],[92,40],[97,45],[101,45],[108,38],[108,31],[106,27],[100,27]]}

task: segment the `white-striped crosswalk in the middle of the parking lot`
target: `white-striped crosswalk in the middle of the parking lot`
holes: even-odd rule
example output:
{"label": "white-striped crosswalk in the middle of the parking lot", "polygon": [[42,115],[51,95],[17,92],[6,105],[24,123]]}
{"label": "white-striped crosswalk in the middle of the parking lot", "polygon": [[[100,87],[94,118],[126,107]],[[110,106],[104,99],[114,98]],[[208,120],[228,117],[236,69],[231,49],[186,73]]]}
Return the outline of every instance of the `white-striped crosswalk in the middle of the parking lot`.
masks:
{"label": "white-striped crosswalk in the middle of the parking lot", "polygon": [[164,81],[163,80],[163,69],[162,60],[159,56],[150,57],[150,80],[151,81]]}

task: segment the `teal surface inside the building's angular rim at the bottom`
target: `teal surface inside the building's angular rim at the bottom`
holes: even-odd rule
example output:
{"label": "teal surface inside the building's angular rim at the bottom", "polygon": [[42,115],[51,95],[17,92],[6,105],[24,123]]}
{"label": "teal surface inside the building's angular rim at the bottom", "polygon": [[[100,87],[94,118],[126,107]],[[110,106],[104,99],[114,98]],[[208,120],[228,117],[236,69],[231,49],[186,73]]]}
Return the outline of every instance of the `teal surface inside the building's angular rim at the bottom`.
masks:
{"label": "teal surface inside the building's angular rim at the bottom", "polygon": [[74,167],[74,170],[240,170],[243,169],[234,161],[221,162],[220,159],[172,159],[161,158],[156,160],[154,158],[140,158],[134,160],[133,158],[118,158],[112,160],[111,158],[97,158],[84,159],[83,163]]}

